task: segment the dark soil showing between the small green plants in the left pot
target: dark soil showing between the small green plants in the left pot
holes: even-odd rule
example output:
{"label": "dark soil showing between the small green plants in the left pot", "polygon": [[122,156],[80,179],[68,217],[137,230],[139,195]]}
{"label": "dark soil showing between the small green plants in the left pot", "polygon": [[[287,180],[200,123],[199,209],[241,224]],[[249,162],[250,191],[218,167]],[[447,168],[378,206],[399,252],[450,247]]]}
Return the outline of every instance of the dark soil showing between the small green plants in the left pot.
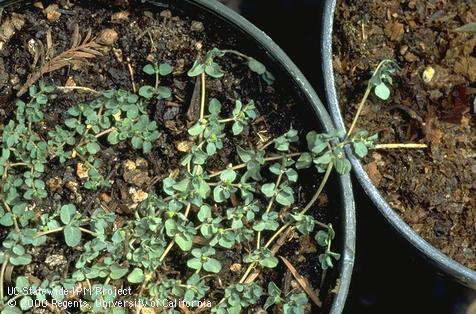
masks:
{"label": "dark soil showing between the small green plants in the left pot", "polygon": [[[38,210],[51,211],[64,202],[73,202],[83,213],[90,213],[94,208],[107,206],[108,210],[118,215],[118,225],[128,220],[132,213],[128,211],[130,199],[123,197],[124,190],[131,187],[149,186],[150,190],[160,190],[160,186],[152,185],[154,180],[160,181],[179,167],[183,153],[177,150],[177,144],[189,140],[187,127],[190,121],[187,112],[192,103],[195,79],[190,79],[186,72],[191,67],[198,54],[203,54],[213,47],[240,50],[242,44],[235,35],[222,36],[215,25],[206,21],[194,21],[178,12],[158,10],[157,7],[128,1],[43,1],[26,8],[6,8],[1,16],[0,25],[8,26],[12,34],[0,32],[0,125],[12,118],[15,110],[16,93],[27,81],[28,76],[37,68],[44,55],[39,47],[53,49],[53,54],[67,50],[71,46],[71,38],[76,25],[82,36],[91,30],[93,36],[101,34],[105,29],[112,29],[117,34],[117,40],[108,45],[105,53],[87,63],[63,67],[45,74],[42,79],[56,86],[76,85],[88,87],[97,91],[107,89],[132,90],[133,82],[136,87],[145,83],[151,84],[148,75],[142,72],[145,64],[157,61],[170,63],[174,66],[172,76],[166,77],[161,84],[169,86],[172,98],[157,101],[150,106],[150,115],[161,127],[162,135],[150,154],[142,155],[133,151],[128,145],[118,146],[117,150],[107,148],[101,151],[98,158],[103,161],[103,173],[108,175],[111,187],[91,193],[81,186],[78,179],[78,159],[72,159],[62,165],[56,162],[48,164],[45,177],[50,196],[36,204]],[[51,7],[50,5],[56,5]],[[48,9],[50,8],[50,9]],[[202,23],[203,22],[203,23]],[[9,23],[2,24],[2,23]],[[6,28],[2,28],[5,30]],[[47,38],[51,42],[48,43]],[[32,49],[34,47],[34,49]],[[36,52],[35,52],[35,49]],[[39,50],[38,50],[39,49]],[[40,52],[38,52],[40,51]],[[43,52],[42,52],[43,51]],[[39,53],[39,56],[36,54]],[[37,64],[35,61],[38,57]],[[245,136],[226,139],[224,149],[218,157],[211,160],[207,167],[219,170],[229,163],[239,161],[235,147],[256,146],[260,139],[256,134],[265,138],[273,138],[286,132],[292,125],[298,129],[300,137],[304,138],[306,130],[313,125],[311,121],[302,119],[303,109],[298,106],[298,100],[292,94],[285,82],[277,82],[272,86],[264,84],[260,78],[251,73],[242,61],[237,58],[226,58],[221,62],[226,74],[221,79],[207,81],[208,98],[216,97],[230,111],[232,102],[237,98],[253,99],[259,111],[259,117],[251,127],[245,130]],[[131,76],[131,71],[133,77]],[[68,91],[58,92],[53,101],[45,108],[45,119],[41,125],[34,126],[39,134],[46,135],[58,121],[65,118],[65,111],[79,102],[94,98],[93,94]],[[105,143],[104,143],[105,144]],[[126,160],[141,164],[135,174],[126,173],[123,162]],[[110,161],[114,162],[110,162]],[[299,192],[299,204],[304,204],[316,188],[319,178],[314,175],[303,176],[305,179],[296,188]],[[150,192],[149,190],[149,192]],[[332,194],[331,194],[332,195]],[[327,199],[331,199],[328,202]],[[339,225],[336,211],[328,208],[335,207],[336,201],[323,194],[319,202],[319,211],[314,215],[320,221]],[[0,231],[0,241],[6,236],[7,230]],[[339,228],[337,228],[339,234]],[[339,235],[337,236],[339,237]],[[314,240],[311,240],[311,242]],[[341,241],[341,239],[337,239]],[[309,239],[307,239],[309,242]],[[286,256],[298,271],[305,275],[314,288],[319,287],[322,270],[318,266],[316,250],[311,244],[300,245],[302,239],[294,236],[280,251]],[[47,250],[36,249],[29,252],[33,262],[24,268],[15,268],[14,274],[28,273],[38,279],[53,279],[63,276],[71,269],[74,260],[81,254],[80,249],[71,249],[65,245],[61,236],[48,237]],[[223,261],[239,261],[243,248],[235,248],[229,252],[223,251]],[[178,256],[170,254],[168,265],[182,264]],[[176,263],[175,263],[176,261]],[[228,264],[221,275],[223,284],[237,281],[243,269],[229,272]],[[180,270],[180,269],[179,269]],[[171,270],[173,273],[174,270]],[[290,276],[286,268],[279,266],[276,270],[264,272],[263,282],[270,279],[278,280],[289,285]],[[328,272],[326,284],[321,288],[320,298],[324,309],[331,304],[333,288],[336,284],[335,270]],[[287,280],[285,280],[287,278]],[[221,297],[218,293],[217,297]],[[313,309],[314,311],[320,311]]]}

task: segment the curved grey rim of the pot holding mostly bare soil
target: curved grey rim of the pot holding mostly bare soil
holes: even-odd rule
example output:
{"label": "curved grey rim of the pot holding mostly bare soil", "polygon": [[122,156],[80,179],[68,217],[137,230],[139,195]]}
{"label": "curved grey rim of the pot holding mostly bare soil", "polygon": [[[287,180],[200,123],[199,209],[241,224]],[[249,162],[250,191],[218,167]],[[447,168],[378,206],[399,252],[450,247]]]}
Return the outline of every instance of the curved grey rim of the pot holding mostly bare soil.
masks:
{"label": "curved grey rim of the pot holding mostly bare soil", "polygon": [[[334,71],[332,68],[332,29],[335,7],[336,0],[326,0],[324,5],[321,37],[321,50],[323,58],[322,66],[326,98],[331,117],[337,128],[344,130],[344,118],[340,111],[339,101],[337,99],[334,84]],[[402,218],[400,218],[400,216],[382,197],[378,189],[375,187],[375,185],[373,185],[372,181],[367,175],[367,172],[362,167],[359,159],[352,154],[351,149],[347,149],[347,154],[350,158],[350,161],[352,162],[352,168],[355,176],[388,223],[412,246],[414,246],[426,259],[436,266],[437,269],[470,288],[476,288],[476,271],[473,271],[452,260],[441,251],[430,245],[428,242],[423,240],[415,231],[413,231],[413,229],[407,225]]]}

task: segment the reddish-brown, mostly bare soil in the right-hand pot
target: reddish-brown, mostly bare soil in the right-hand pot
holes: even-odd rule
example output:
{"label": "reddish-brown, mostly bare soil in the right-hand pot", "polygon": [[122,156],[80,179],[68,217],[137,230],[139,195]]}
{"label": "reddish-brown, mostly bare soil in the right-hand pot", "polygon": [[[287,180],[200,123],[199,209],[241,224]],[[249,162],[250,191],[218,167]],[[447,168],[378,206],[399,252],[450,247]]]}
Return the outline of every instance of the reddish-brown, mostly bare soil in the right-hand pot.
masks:
{"label": "reddish-brown, mostly bare soil in the right-hand pot", "polygon": [[333,66],[350,125],[372,70],[397,61],[390,99],[371,97],[358,128],[429,147],[373,151],[366,170],[418,234],[476,270],[476,37],[456,31],[471,22],[474,0],[341,0]]}

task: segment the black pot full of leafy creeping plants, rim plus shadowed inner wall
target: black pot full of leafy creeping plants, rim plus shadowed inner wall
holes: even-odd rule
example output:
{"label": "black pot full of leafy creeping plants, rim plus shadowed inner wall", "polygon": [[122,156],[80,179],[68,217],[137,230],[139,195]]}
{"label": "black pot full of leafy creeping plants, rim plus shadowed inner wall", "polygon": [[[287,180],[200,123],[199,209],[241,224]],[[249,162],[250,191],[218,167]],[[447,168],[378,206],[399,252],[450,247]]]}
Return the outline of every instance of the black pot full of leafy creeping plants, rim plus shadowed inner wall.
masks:
{"label": "black pot full of leafy creeping plants, rim plus shadowed inner wall", "polygon": [[[0,8],[18,2],[21,0],[0,0]],[[313,129],[323,132],[334,129],[329,114],[301,71],[271,38],[245,18],[216,0],[148,0],[147,2],[206,21],[207,25],[212,25],[217,30],[215,34],[217,37],[226,36],[230,32],[234,34],[234,37],[239,38],[240,50],[259,57],[279,80],[289,82],[290,93],[302,104],[303,111],[311,113],[306,116],[306,119]],[[334,204],[340,212],[337,216],[341,219],[341,233],[340,236],[338,235],[340,248],[336,248],[342,254],[338,265],[340,284],[330,309],[330,313],[337,314],[344,309],[354,265],[355,210],[349,175],[334,176],[329,186],[336,190]],[[320,266],[316,265],[317,267]]]}

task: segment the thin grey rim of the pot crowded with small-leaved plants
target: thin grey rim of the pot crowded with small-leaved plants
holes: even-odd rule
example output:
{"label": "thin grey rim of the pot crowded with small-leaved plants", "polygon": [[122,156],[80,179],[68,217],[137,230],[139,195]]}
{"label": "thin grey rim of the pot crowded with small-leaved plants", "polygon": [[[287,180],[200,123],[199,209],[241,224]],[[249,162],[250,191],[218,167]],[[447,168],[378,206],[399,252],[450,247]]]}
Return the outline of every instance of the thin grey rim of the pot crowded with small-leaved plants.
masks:
{"label": "thin grey rim of the pot crowded with small-leaved plants", "polygon": [[[317,119],[320,121],[323,129],[326,132],[333,130],[334,124],[327,113],[324,105],[312,88],[311,84],[304,77],[302,72],[297,68],[293,61],[286,55],[286,53],[274,41],[266,35],[262,30],[257,28],[254,24],[249,22],[243,16],[239,15],[232,9],[219,3],[216,0],[185,0],[187,3],[194,3],[199,5],[202,9],[214,14],[218,18],[225,20],[227,23],[243,30],[249,37],[251,37],[259,46],[261,46],[269,57],[279,63],[284,70],[294,80],[296,86],[299,87],[308,103],[313,107]],[[342,259],[340,261],[340,285],[339,291],[334,297],[330,313],[342,313],[349,291],[350,281],[352,277],[352,270],[354,267],[355,258],[355,204],[352,192],[352,185],[350,175],[337,176],[339,183],[340,195],[342,196],[342,230],[343,247],[341,248]]]}

